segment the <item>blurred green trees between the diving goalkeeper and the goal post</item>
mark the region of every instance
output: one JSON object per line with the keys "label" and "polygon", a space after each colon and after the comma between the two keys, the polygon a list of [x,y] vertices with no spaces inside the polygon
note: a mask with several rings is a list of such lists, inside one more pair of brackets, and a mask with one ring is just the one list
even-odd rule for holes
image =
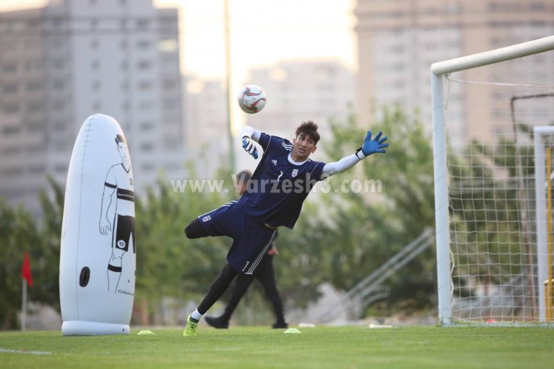
{"label": "blurred green trees between the diving goalkeeper and the goal post", "polygon": [[[388,134],[387,154],[375,154],[331,177],[332,194],[321,196],[319,213],[323,216],[313,222],[317,231],[312,234],[319,233],[312,240],[318,242],[314,247],[319,248],[315,255],[319,255],[320,270],[339,289],[350,289],[425,228],[434,226],[433,155],[422,123],[393,107],[384,108],[382,119],[371,128],[374,134],[379,130]],[[366,131],[353,116],[346,123],[334,124],[331,140],[323,143],[330,160],[351,154]],[[368,179],[380,181],[382,193],[341,190],[344,183]],[[339,193],[334,194],[335,189]],[[434,250],[427,249],[388,285],[393,291],[391,303],[410,299],[418,308],[434,305]]]}

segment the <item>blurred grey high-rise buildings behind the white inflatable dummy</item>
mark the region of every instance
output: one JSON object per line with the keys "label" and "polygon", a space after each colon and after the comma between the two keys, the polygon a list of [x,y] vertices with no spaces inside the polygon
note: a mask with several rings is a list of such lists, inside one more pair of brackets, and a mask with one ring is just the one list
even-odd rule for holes
{"label": "blurred grey high-rise buildings behind the white inflatable dummy", "polygon": [[[4,13],[5,15],[6,13]],[[114,117],[133,152],[137,192],[186,160],[177,11],[150,0],[51,1],[0,17],[0,195],[38,213],[46,174],[64,183],[92,114]]]}

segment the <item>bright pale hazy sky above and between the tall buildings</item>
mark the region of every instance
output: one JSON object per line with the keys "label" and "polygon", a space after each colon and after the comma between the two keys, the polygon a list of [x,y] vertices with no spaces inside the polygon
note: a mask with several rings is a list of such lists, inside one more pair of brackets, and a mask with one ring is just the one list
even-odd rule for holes
{"label": "bright pale hazy sky above and between the tall buildings", "polygon": [[[87,1],[87,0],[82,0]],[[48,0],[0,0],[1,10],[44,6]],[[229,0],[233,84],[251,66],[280,60],[336,58],[355,70],[354,0]],[[223,0],[155,0],[181,12],[183,70],[224,76]],[[248,81],[247,81],[248,82]]]}

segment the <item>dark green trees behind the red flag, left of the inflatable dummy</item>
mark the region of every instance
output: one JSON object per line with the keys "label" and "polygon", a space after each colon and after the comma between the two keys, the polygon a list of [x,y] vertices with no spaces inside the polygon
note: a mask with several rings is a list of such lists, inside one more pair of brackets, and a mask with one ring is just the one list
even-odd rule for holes
{"label": "dark green trees behind the red flag, left of the inflatable dummy", "polygon": [[28,299],[60,308],[60,234],[64,192],[48,177],[52,196],[39,192],[42,222],[22,206],[12,208],[0,198],[0,321],[2,329],[19,327],[21,311],[21,265],[28,251],[33,271],[33,287]]}

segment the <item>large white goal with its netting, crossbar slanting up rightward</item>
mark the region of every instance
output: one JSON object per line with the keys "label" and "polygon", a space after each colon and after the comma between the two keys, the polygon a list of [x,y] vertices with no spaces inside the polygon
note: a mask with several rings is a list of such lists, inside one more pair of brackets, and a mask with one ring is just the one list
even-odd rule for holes
{"label": "large white goal with its netting, crossbar slanting up rightward", "polygon": [[435,63],[431,89],[440,323],[549,321],[550,151],[534,129],[554,125],[554,36]]}

